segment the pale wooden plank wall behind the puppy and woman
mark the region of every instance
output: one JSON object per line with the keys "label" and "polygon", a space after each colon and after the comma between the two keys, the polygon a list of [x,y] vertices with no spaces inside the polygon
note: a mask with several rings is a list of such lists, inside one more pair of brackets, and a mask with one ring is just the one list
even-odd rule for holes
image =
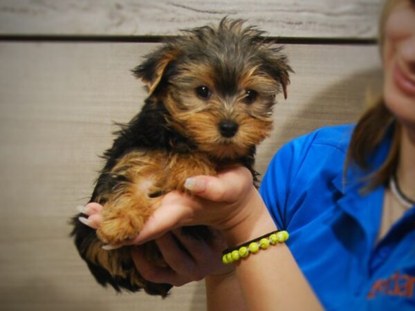
{"label": "pale wooden plank wall behind the puppy and woman", "polygon": [[295,70],[257,169],[291,138],[353,122],[381,85],[382,0],[0,0],[0,310],[205,310],[203,282],[165,299],[100,288],[68,233],[113,122],[145,98],[129,70],[163,36],[225,15],[281,37]]}

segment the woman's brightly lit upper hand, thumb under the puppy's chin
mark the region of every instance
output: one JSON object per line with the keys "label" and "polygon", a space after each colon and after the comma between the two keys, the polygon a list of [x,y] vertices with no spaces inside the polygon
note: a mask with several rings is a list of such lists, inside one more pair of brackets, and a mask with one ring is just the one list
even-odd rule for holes
{"label": "woman's brightly lit upper hand, thumb under the puppy's chin", "polygon": [[188,178],[185,187],[195,196],[178,191],[167,194],[131,243],[145,243],[171,229],[188,225],[208,225],[224,233],[238,232],[237,227],[252,218],[258,207],[264,209],[252,175],[245,167],[228,169],[218,176]]}

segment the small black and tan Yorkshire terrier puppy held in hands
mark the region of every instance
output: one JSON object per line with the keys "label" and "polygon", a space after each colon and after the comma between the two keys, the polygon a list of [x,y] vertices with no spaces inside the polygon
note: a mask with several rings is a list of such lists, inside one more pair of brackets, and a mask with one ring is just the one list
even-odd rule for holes
{"label": "small black and tan Yorkshire terrier puppy held in hands", "polygon": [[[118,131],[90,202],[103,205],[98,230],[72,220],[75,245],[101,285],[166,296],[172,285],[140,276],[131,247],[105,250],[138,235],[164,194],[186,191],[185,180],[235,165],[250,169],[255,147],[271,131],[275,95],[286,97],[291,68],[264,32],[223,19],[219,26],[184,30],[147,55],[133,74],[147,85],[138,115]],[[187,227],[209,238],[207,227]],[[154,242],[151,261],[163,263]]]}

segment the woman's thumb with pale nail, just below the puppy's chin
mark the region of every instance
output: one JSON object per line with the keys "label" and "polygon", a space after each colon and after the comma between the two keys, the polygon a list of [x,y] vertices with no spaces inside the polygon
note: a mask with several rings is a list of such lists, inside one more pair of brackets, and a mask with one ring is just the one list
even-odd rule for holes
{"label": "woman's thumb with pale nail, just below the puppy's chin", "polygon": [[218,176],[187,178],[185,187],[201,198],[232,203],[252,187],[252,174],[245,167],[236,167]]}

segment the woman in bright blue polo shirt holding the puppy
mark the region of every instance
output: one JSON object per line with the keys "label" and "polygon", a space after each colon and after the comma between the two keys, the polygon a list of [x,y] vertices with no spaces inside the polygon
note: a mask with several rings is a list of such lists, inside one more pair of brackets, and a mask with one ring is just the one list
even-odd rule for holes
{"label": "woman in bright blue polo shirt holding the puppy", "polygon": [[[382,98],[356,126],[286,144],[261,195],[239,167],[187,180],[194,199],[165,196],[134,241],[155,238],[169,264],[154,267],[136,247],[146,279],[182,285],[205,277],[209,310],[415,308],[415,1],[387,1],[380,38]],[[92,227],[100,208],[85,207]],[[177,230],[199,224],[220,238],[194,241]],[[290,233],[285,244],[221,263],[225,245],[276,229]]]}

